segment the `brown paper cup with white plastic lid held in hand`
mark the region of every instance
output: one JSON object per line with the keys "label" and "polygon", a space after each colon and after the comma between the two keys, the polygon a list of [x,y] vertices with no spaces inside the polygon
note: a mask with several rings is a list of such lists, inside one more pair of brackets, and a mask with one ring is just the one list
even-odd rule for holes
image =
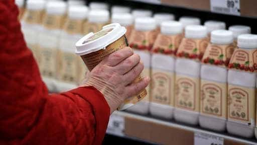
{"label": "brown paper cup with white plastic lid held in hand", "polygon": [[[76,43],[76,54],[80,55],[89,71],[100,63],[109,54],[128,46],[125,37],[126,29],[118,23],[109,24],[102,27],[96,33],[89,33]],[[141,80],[138,76],[133,83]],[[146,89],[136,96],[126,99],[118,110],[124,110],[135,105],[147,95]]]}

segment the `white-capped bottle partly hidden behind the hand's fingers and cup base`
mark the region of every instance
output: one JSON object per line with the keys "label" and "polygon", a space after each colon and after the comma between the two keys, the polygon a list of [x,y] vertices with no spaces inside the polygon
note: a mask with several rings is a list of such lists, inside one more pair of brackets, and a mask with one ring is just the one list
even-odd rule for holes
{"label": "white-capped bottle partly hidden behind the hand's fingers and cup base", "polygon": [[[145,68],[143,70],[144,77],[151,76],[150,62],[151,62],[151,53],[150,50],[153,47],[154,41],[157,37],[156,33],[156,22],[153,18],[143,17],[137,18],[135,20],[135,29],[132,31],[130,36],[130,46],[134,48],[134,53],[137,53],[141,57]],[[128,111],[148,114],[149,112],[149,101],[150,101],[150,86],[148,85],[147,96],[134,105],[133,107],[128,108]]]}

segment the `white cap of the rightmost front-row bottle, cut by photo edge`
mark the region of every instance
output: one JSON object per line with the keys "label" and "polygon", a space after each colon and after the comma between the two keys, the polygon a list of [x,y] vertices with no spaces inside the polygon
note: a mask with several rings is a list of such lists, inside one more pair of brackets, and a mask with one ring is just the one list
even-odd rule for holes
{"label": "white cap of the rightmost front-row bottle, cut by photo edge", "polygon": [[237,46],[239,48],[253,49],[257,48],[257,35],[242,34],[237,37]]}

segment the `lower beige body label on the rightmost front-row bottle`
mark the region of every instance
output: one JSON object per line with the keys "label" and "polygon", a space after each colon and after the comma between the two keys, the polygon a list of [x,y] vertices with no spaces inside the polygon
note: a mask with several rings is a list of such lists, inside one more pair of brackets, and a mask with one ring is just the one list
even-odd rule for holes
{"label": "lower beige body label on the rightmost front-row bottle", "polygon": [[254,125],[255,88],[228,85],[228,120]]}

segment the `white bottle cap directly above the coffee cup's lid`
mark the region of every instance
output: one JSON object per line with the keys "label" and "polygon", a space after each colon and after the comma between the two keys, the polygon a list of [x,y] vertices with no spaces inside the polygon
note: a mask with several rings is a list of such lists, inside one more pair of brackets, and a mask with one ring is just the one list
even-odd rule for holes
{"label": "white bottle cap directly above the coffee cup's lid", "polygon": [[105,23],[109,21],[109,11],[91,10],[88,14],[88,22]]}

